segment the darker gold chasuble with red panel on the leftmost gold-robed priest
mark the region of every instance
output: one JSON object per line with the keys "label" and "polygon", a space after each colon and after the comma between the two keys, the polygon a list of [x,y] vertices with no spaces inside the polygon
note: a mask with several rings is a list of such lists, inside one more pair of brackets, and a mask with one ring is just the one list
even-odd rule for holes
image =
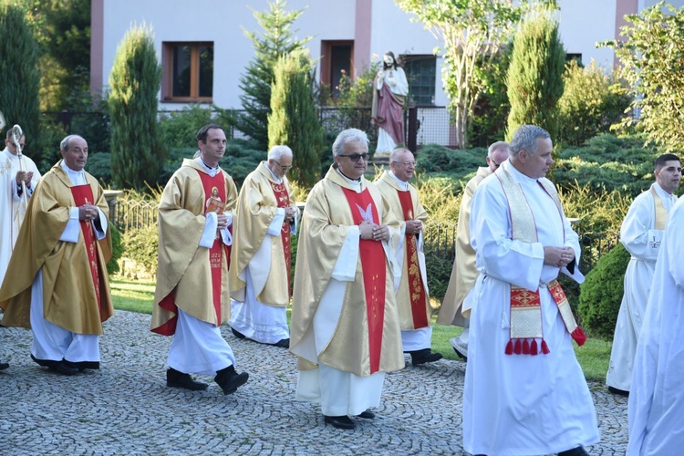
{"label": "darker gold chasuble with red panel on the leftmost gold-robed priest", "polygon": [[92,223],[80,222],[77,243],[59,241],[71,207],[86,202],[109,213],[104,191],[86,172],[85,185],[73,185],[58,161],[36,187],[7,268],[0,307],[2,324],[31,327],[31,286],[43,272],[43,309],[47,321],[77,334],[101,335],[102,322],[114,314],[106,264],[111,235],[97,240]]}

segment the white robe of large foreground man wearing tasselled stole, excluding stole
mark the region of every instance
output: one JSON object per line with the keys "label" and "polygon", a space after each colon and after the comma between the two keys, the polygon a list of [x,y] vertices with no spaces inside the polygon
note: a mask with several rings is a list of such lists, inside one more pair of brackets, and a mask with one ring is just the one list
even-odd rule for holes
{"label": "white robe of large foreground man wearing tasselled stole, excluding stole", "polygon": [[[463,391],[463,447],[472,454],[555,453],[599,440],[594,402],[570,334],[545,286],[561,270],[544,264],[544,246],[570,246],[577,235],[542,186],[516,171],[534,214],[538,242],[513,240],[510,210],[495,175],[472,199],[470,231],[480,271],[475,293]],[[564,241],[565,238],[565,241]],[[570,275],[563,268],[562,272]],[[575,279],[583,276],[575,267]],[[510,339],[510,284],[539,288],[547,355],[505,355]]]}

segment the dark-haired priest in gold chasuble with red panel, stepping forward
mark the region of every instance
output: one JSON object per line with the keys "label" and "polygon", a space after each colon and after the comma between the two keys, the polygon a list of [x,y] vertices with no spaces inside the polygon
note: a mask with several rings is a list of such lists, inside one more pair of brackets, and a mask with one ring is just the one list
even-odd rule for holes
{"label": "dark-haired priest in gold chasuble with red panel, stepping forward", "polygon": [[206,389],[190,374],[214,375],[232,394],[248,374],[235,371],[233,349],[220,326],[230,317],[230,232],[237,189],[219,167],[225,133],[214,124],[197,133],[200,156],[183,160],[161,195],[159,266],[151,330],[173,336],[166,384]]}

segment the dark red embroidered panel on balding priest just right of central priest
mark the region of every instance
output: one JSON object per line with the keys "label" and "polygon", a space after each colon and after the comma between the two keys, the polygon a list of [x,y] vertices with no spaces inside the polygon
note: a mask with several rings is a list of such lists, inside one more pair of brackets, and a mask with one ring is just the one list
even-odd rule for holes
{"label": "dark red embroidered panel on balding priest just right of central priest", "polygon": [[[413,220],[413,201],[411,192],[397,191],[401,210],[404,212],[404,220]],[[406,265],[409,278],[409,299],[411,305],[411,315],[413,316],[413,327],[420,329],[428,326],[428,315],[425,310],[425,287],[420,275],[420,264],[418,263],[418,243],[415,234],[406,234]]]}

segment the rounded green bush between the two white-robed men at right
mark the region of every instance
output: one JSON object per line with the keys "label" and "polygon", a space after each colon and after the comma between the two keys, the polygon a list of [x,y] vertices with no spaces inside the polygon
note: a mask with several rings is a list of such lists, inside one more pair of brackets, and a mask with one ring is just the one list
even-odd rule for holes
{"label": "rounded green bush between the two white-robed men at right", "polygon": [[613,338],[624,294],[624,277],[630,255],[622,244],[605,254],[581,285],[577,312],[592,337]]}

